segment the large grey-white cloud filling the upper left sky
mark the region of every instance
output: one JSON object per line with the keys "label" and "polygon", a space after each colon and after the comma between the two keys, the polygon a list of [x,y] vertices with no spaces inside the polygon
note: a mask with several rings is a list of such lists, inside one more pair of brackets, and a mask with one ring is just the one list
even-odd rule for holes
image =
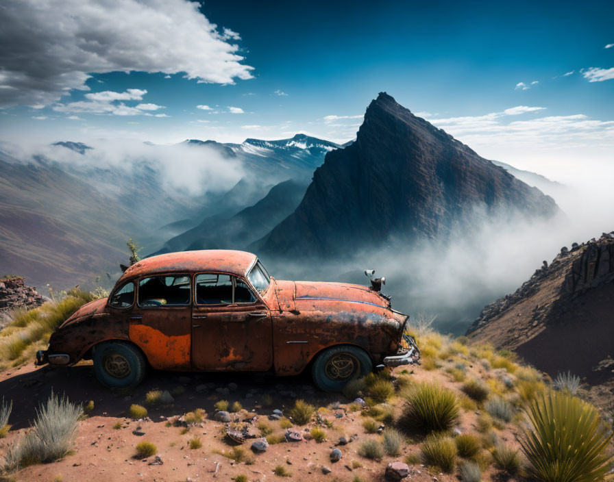
{"label": "large grey-white cloud filling the upper left sky", "polygon": [[[185,73],[234,84],[250,79],[240,36],[188,0],[5,0],[0,30],[0,105],[49,105],[90,73]],[[27,62],[25,61],[27,60]]]}

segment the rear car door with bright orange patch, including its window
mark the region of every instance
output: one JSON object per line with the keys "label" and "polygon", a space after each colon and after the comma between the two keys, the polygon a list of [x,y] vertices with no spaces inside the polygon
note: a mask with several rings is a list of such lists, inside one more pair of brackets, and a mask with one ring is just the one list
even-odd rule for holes
{"label": "rear car door with bright orange patch, including its window", "polygon": [[187,274],[144,277],[137,283],[129,337],[153,368],[191,368],[191,278]]}

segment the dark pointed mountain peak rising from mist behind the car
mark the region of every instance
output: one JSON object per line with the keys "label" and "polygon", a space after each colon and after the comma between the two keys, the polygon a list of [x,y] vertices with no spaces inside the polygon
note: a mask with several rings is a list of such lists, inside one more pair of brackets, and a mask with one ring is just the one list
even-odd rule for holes
{"label": "dark pointed mountain peak rising from mist behind the car", "polygon": [[391,236],[445,239],[455,223],[476,212],[549,217],[558,207],[380,93],[356,142],[326,155],[302,203],[271,231],[263,249],[339,255]]}

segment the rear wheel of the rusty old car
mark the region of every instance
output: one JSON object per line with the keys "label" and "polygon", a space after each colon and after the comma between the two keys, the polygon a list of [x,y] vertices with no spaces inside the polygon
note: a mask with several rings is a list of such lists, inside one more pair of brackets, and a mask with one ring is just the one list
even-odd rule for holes
{"label": "rear wheel of the rusty old car", "polygon": [[104,342],[94,347],[94,373],[108,388],[136,387],[145,377],[145,357],[135,346]]}

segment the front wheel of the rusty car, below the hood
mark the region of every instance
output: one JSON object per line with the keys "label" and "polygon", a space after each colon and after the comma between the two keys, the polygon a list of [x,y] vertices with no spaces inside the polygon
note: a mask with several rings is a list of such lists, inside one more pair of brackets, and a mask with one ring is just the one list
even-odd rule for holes
{"label": "front wheel of the rusty car, below the hood", "polygon": [[373,371],[369,354],[358,346],[332,346],[320,353],[311,368],[313,381],[325,392],[341,392],[347,382]]}

